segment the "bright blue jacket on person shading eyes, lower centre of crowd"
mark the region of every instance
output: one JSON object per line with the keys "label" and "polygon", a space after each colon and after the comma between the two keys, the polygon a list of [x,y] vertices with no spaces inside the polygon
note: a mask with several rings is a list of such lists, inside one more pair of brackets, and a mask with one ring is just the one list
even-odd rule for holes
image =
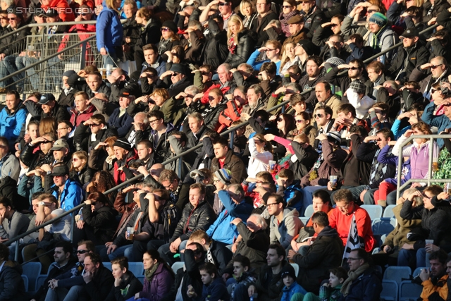
{"label": "bright blue jacket on person shading eyes, lower centre of crowd", "polygon": [[218,192],[218,197],[225,208],[219,214],[218,219],[210,226],[209,230],[206,231],[206,234],[213,240],[230,245],[239,234],[237,227],[230,222],[237,217],[242,219],[242,221],[247,221],[254,207],[245,201],[236,204],[226,190]]}

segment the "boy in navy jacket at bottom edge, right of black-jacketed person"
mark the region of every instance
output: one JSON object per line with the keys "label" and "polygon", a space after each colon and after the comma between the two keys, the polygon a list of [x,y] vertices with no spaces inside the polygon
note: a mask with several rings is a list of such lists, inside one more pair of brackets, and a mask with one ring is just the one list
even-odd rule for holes
{"label": "boy in navy jacket at bottom edge, right of black-jacketed person", "polygon": [[[202,301],[229,301],[230,296],[228,295],[226,285],[223,279],[219,277],[218,270],[214,264],[210,262],[202,264],[199,266],[200,276],[202,278],[202,283],[204,283],[204,288],[202,288],[202,297],[199,300]],[[194,292],[192,285],[188,285],[187,291],[188,297],[197,297]]]}

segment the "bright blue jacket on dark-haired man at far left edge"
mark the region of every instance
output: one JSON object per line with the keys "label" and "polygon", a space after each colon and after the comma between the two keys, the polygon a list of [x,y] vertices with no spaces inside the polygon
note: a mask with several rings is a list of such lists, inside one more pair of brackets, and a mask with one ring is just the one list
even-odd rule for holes
{"label": "bright blue jacket on dark-haired man at far left edge", "polygon": [[26,118],[27,110],[23,107],[19,107],[14,113],[11,113],[5,106],[0,111],[0,136],[8,139],[10,145],[14,143],[17,137],[19,137],[20,130],[22,130],[22,125],[25,123]]}

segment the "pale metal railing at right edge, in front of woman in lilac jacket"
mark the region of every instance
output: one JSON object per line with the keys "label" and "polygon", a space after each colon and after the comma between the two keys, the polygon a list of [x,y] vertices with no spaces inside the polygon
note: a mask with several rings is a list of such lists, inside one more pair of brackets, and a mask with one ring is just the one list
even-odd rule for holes
{"label": "pale metal railing at right edge, in front of woman in lilac jacket", "polygon": [[[429,159],[428,159],[428,178],[423,179],[409,179],[404,184],[401,185],[402,181],[402,149],[404,146],[406,146],[409,142],[412,142],[414,139],[426,139],[429,140]],[[428,183],[428,185],[431,185],[431,182],[435,183],[450,183],[451,179],[434,179],[432,178],[433,173],[433,159],[438,159],[440,156],[440,152],[436,154],[434,157],[433,154],[433,143],[436,139],[451,139],[451,135],[411,135],[407,138],[402,144],[400,145],[400,154],[398,154],[397,157],[397,189],[396,189],[396,199],[400,198],[400,192],[407,187],[407,185],[410,185],[411,183]]]}

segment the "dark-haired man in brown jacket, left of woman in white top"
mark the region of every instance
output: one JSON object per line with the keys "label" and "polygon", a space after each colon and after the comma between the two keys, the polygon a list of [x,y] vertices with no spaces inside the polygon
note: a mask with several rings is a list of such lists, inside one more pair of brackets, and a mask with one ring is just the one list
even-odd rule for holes
{"label": "dark-haired man in brown jacket, left of woman in white top", "polygon": [[230,183],[242,183],[246,175],[245,164],[233,154],[232,149],[229,149],[227,139],[219,137],[212,143],[215,158],[211,160],[211,172],[215,173],[221,168],[226,168],[232,175]]}

